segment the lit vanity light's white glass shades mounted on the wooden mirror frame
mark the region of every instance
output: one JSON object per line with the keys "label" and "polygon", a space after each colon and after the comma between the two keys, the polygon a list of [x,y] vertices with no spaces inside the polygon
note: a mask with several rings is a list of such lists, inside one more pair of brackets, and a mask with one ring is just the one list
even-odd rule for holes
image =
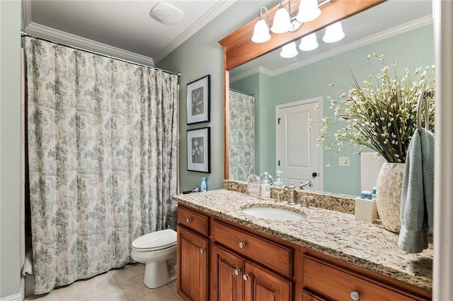
{"label": "lit vanity light's white glass shades mounted on the wooden mirror frame", "polygon": [[[301,28],[304,22],[312,21],[321,16],[320,7],[330,2],[331,0],[324,0],[320,3],[318,3],[318,0],[301,0],[299,11],[291,13],[291,0],[288,0],[289,10],[283,5],[283,0],[280,0],[280,5],[275,11],[272,28],[269,28],[269,11],[263,6],[260,8],[260,16],[253,28],[252,41],[256,43],[268,42],[270,40],[269,31],[273,33],[292,33]],[[263,18],[264,11],[266,20]]]}

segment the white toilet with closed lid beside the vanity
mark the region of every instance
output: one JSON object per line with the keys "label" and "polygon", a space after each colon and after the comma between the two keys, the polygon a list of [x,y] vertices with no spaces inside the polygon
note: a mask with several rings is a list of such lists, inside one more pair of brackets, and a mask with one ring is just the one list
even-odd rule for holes
{"label": "white toilet with closed lid beside the vanity", "polygon": [[143,283],[148,288],[159,288],[176,279],[176,236],[176,231],[166,229],[132,242],[132,259],[146,264]]}

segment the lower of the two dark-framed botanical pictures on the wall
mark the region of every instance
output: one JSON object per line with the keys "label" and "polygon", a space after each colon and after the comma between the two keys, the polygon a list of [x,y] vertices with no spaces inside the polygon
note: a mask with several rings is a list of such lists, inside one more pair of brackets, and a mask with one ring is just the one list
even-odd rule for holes
{"label": "lower of the two dark-framed botanical pictures on the wall", "polygon": [[187,170],[211,172],[210,127],[188,129]]}

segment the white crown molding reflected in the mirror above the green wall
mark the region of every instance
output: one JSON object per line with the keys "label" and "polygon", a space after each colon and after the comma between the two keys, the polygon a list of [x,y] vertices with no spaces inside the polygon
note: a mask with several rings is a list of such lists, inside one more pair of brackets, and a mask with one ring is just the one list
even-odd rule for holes
{"label": "white crown molding reflected in the mirror above the green wall", "polygon": [[[423,27],[425,25],[429,25],[429,24],[432,23],[432,21],[433,21],[432,20],[432,15],[424,16],[422,18],[418,18],[418,19],[412,20],[412,21],[410,21],[408,23],[404,23],[404,24],[395,26],[394,28],[390,28],[388,30],[384,30],[381,33],[377,33],[375,35],[370,35],[369,37],[365,37],[365,38],[357,40],[355,42],[350,42],[349,44],[337,47],[336,49],[331,49],[331,50],[328,50],[328,51],[323,52],[321,54],[316,54],[313,57],[309,57],[307,59],[303,59],[301,61],[297,61],[294,64],[290,64],[290,65],[284,66],[282,68],[274,69],[274,70],[266,69],[268,71],[268,73],[266,75],[268,75],[268,76],[277,76],[277,75],[285,73],[287,71],[292,71],[292,70],[300,68],[302,66],[313,64],[316,61],[321,61],[323,59],[327,59],[329,57],[333,57],[333,56],[336,56],[338,54],[342,54],[344,52],[348,52],[348,51],[350,51],[352,49],[356,49],[358,47],[369,45],[371,43],[378,42],[380,40],[384,40],[384,39],[389,38],[389,37],[394,37],[395,35],[399,35],[401,33],[406,33],[408,31]],[[243,73],[239,73],[238,75],[234,76],[235,81],[237,81],[237,80],[239,80],[241,78],[244,78],[246,76],[250,76],[251,74],[253,74],[252,70],[253,70],[254,73],[256,73],[256,72],[258,72],[257,70],[260,70],[260,69],[253,68],[253,69],[250,69],[248,71],[244,71]],[[243,76],[243,74],[246,74],[246,75]]]}

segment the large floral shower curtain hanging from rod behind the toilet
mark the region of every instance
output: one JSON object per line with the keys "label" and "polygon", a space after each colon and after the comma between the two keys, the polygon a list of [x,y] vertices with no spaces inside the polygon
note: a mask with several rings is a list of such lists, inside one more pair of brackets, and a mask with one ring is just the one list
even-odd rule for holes
{"label": "large floral shower curtain hanging from rod behind the toilet", "polygon": [[178,78],[25,40],[34,290],[132,261],[175,225]]}

